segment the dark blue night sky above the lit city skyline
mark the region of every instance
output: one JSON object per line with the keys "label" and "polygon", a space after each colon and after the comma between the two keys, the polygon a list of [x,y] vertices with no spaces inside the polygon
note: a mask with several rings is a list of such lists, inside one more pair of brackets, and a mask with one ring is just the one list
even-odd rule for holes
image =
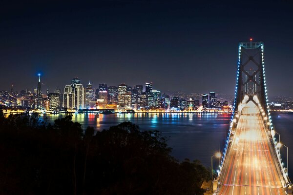
{"label": "dark blue night sky above the lit city skyline", "polygon": [[293,1],[0,3],[0,90],[153,82],[233,94],[238,42],[264,41],[268,93],[293,96]]}

